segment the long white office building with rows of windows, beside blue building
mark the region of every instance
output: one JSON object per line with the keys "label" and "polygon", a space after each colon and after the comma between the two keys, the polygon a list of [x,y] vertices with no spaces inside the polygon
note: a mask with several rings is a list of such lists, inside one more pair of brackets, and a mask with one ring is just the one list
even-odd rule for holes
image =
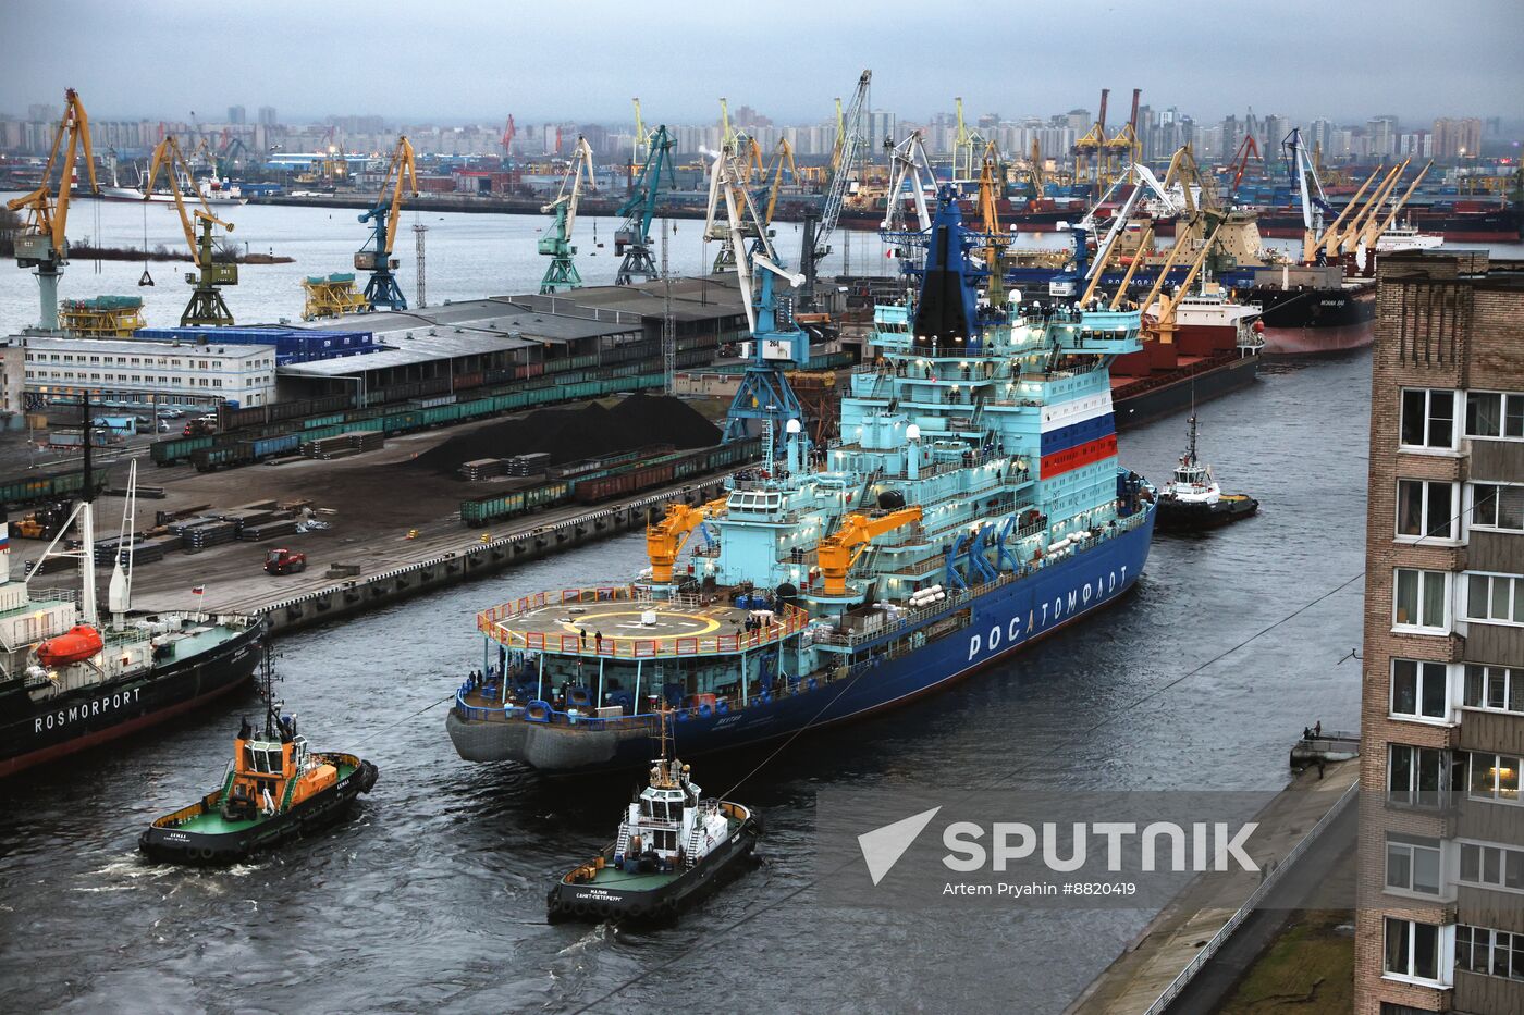
{"label": "long white office building with rows of windows, beside blue building", "polygon": [[102,404],[267,405],[274,401],[274,346],[110,338],[20,338],[26,393],[78,395]]}

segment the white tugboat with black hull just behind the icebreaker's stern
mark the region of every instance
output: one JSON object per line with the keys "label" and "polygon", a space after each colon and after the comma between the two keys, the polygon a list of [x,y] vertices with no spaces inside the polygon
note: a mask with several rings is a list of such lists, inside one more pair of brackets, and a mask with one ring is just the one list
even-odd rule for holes
{"label": "white tugboat with black hull just behind the icebreaker's stern", "polygon": [[552,924],[671,922],[753,855],[760,818],[741,803],[706,800],[689,767],[666,754],[663,715],[651,785],[629,803],[617,838],[550,889],[546,916]]}

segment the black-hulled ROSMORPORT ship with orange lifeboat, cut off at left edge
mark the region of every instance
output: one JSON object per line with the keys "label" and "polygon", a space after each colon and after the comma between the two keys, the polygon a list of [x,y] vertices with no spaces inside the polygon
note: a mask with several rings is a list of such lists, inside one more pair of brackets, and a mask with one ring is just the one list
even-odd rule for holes
{"label": "black-hulled ROSMORPORT ship with orange lifeboat, cut off at left edge", "polygon": [[[88,453],[84,471],[91,472]],[[136,463],[133,471],[136,477]],[[93,485],[87,480],[84,489],[43,553],[44,564],[55,556],[78,556],[79,588],[34,591],[37,572],[12,582],[6,526],[0,521],[0,777],[181,715],[247,684],[259,663],[259,617],[133,616],[130,550],[116,558],[108,614],[101,616]],[[131,527],[134,504],[130,494],[123,532]],[[55,553],[75,523],[81,549]]]}

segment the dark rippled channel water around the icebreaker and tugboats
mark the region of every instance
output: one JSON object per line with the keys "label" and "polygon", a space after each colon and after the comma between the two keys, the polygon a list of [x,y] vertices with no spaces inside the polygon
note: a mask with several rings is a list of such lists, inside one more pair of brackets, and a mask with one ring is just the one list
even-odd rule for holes
{"label": "dark rippled channel water around the icebreaker and tugboats", "polygon": [[[297,242],[293,227],[274,245]],[[465,282],[442,268],[439,294],[523,287],[524,268],[480,261]],[[0,273],[11,319],[18,274]],[[139,831],[216,785],[239,718],[259,713],[251,690],[0,785],[5,1007],[1058,1012],[1151,911],[826,907],[817,792],[1285,785],[1303,727],[1358,721],[1344,657],[1361,639],[1369,392],[1364,351],[1266,364],[1199,413],[1202,457],[1262,501],[1257,518],[1158,536],[1134,594],[943,693],[776,754],[698,760],[707,792],[764,814],[765,860],[677,928],[544,921],[550,879],[611,837],[634,777],[472,765],[443,730],[482,664],[475,610],[632,575],[639,535],[283,639],[277,693],[315,748],[379,765],[375,792],[332,834],[256,863],[143,863]],[[1163,482],[1184,440],[1184,418],[1141,427],[1122,460]]]}

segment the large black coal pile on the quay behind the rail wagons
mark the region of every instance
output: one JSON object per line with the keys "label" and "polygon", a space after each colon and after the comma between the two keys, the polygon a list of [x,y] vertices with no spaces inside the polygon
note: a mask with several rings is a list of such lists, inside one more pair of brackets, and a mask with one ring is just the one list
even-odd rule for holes
{"label": "large black coal pile on the quay behind the rail wagons", "polygon": [[457,434],[410,462],[440,475],[480,459],[546,454],[547,465],[596,459],[652,443],[704,448],[719,443],[719,428],[687,402],[657,395],[631,395],[613,408],[593,402],[578,408],[541,408],[523,419]]}

